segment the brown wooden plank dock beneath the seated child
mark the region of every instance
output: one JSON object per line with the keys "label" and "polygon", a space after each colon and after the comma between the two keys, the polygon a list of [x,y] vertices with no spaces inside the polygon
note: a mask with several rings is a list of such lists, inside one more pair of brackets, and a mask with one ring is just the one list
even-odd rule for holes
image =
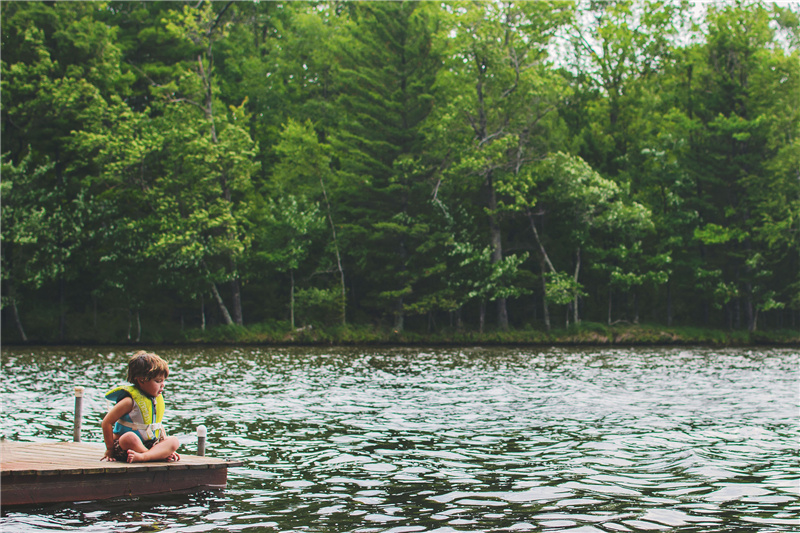
{"label": "brown wooden plank dock beneath the seated child", "polygon": [[102,500],[224,488],[241,461],[181,454],[177,462],[101,461],[105,447],[85,442],[0,441],[0,505]]}

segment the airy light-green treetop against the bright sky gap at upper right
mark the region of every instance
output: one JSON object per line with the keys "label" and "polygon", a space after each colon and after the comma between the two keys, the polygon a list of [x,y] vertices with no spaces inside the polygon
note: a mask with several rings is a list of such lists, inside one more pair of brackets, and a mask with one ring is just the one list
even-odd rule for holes
{"label": "airy light-green treetop against the bright sky gap at upper right", "polygon": [[[578,5],[569,32],[575,92],[583,95],[577,148],[598,172],[632,182],[644,178],[634,166],[654,132],[660,87],[654,81],[673,61],[685,30],[684,2],[589,0]],[[645,144],[646,146],[646,144]]]}

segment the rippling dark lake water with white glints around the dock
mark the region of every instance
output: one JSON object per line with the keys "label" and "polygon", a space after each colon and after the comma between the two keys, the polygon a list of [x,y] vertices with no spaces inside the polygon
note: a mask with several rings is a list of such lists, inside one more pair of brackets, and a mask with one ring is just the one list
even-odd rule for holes
{"label": "rippling dark lake water with white glints around the dock", "polygon": [[[226,490],[3,509],[0,530],[800,531],[792,349],[168,348],[165,422]],[[4,348],[2,436],[102,442],[120,348]]]}

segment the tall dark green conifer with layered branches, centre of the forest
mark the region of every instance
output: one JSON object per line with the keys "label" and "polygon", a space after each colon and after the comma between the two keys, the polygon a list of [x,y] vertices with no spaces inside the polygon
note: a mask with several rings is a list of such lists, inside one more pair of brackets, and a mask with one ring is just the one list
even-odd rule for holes
{"label": "tall dark green conifer with layered branches, centre of the forest", "polygon": [[349,16],[337,50],[339,121],[330,136],[340,208],[348,214],[343,238],[365,307],[379,314],[390,309],[400,331],[409,306],[429,308],[415,305],[424,298],[415,285],[425,272],[413,257],[431,228],[420,127],[441,66],[432,49],[438,6],[365,2],[354,4]]}

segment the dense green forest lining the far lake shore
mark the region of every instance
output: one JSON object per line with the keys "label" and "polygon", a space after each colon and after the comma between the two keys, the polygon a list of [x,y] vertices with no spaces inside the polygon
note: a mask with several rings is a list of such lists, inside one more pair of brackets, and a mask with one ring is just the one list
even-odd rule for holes
{"label": "dense green forest lining the far lake shore", "polygon": [[4,342],[800,327],[797,4],[0,9]]}

